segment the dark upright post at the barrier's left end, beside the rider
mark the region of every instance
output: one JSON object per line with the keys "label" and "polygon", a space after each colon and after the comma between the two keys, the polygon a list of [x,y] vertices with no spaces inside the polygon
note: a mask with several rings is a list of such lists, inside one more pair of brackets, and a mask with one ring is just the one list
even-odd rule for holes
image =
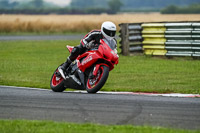
{"label": "dark upright post at the barrier's left end, beside the rider", "polygon": [[129,30],[128,24],[120,24],[121,27],[121,48],[122,48],[122,55],[129,55]]}

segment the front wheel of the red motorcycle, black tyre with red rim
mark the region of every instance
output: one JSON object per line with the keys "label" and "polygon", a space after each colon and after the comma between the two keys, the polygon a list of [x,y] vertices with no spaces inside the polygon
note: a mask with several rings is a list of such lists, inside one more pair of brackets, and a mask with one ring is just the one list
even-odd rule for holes
{"label": "front wheel of the red motorcycle, black tyre with red rim", "polygon": [[[93,70],[90,71],[92,75]],[[88,93],[96,93],[99,91],[103,85],[106,83],[106,80],[109,75],[109,67],[100,66],[96,76],[89,76],[86,83],[86,90]]]}

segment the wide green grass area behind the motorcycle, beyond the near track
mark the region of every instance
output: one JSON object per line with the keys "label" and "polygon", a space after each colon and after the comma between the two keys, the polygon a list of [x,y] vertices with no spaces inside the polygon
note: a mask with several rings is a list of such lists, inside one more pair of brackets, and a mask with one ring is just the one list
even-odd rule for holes
{"label": "wide green grass area behind the motorcycle, beyond the near track", "polygon": [[[50,78],[79,41],[1,41],[0,84],[50,88]],[[122,56],[104,91],[200,93],[200,61]]]}

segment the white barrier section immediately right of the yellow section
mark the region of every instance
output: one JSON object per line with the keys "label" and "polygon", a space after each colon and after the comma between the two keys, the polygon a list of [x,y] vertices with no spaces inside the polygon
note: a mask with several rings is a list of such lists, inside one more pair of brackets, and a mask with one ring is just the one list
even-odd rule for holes
{"label": "white barrier section immediately right of the yellow section", "polygon": [[192,23],[166,23],[166,56],[192,56]]}

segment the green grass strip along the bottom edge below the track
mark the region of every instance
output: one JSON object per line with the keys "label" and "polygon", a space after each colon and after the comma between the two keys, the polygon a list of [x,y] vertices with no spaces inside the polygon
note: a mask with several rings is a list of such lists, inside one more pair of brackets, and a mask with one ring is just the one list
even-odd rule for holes
{"label": "green grass strip along the bottom edge below the track", "polygon": [[200,130],[132,125],[73,124],[53,121],[0,120],[1,133],[199,133]]}

